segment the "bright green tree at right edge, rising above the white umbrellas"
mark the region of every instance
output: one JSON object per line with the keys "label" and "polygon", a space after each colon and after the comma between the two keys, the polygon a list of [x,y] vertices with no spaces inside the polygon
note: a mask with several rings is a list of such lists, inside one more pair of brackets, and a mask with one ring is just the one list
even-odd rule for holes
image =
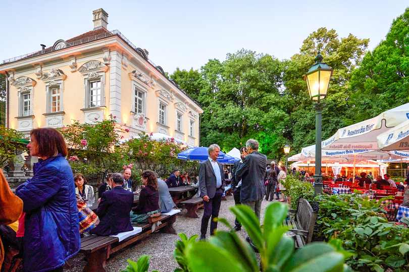
{"label": "bright green tree at right edge, rising above the white umbrellas", "polygon": [[368,52],[349,84],[359,122],[409,102],[409,8],[393,20],[386,39]]}

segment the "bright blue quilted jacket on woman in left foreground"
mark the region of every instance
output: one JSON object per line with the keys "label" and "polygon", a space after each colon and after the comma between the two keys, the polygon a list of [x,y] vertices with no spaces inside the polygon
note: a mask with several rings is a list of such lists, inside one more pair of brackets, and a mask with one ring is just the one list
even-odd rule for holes
{"label": "bright blue quilted jacket on woman in left foreground", "polygon": [[64,265],[81,246],[75,185],[68,161],[58,154],[34,164],[34,176],[16,189],[26,213],[25,271]]}

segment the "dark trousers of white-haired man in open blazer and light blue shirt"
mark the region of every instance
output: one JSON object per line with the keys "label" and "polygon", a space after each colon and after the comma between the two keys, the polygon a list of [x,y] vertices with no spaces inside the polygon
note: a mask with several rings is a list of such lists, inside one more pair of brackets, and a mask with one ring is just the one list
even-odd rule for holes
{"label": "dark trousers of white-haired man in open blazer and light blue shirt", "polygon": [[200,234],[201,237],[205,237],[208,232],[209,219],[212,217],[212,222],[210,222],[210,235],[213,235],[215,229],[217,229],[217,222],[213,221],[219,216],[220,204],[222,202],[223,189],[219,188],[216,190],[215,196],[209,198],[209,202],[203,200],[203,217],[201,218]]}

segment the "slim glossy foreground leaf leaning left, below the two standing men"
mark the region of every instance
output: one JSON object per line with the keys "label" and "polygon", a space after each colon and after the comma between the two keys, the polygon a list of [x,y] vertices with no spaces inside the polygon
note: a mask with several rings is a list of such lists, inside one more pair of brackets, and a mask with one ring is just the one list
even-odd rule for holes
{"label": "slim glossy foreground leaf leaning left, below the two standing men", "polygon": [[248,236],[258,248],[264,248],[260,221],[255,216],[254,212],[247,206],[237,205],[229,208],[230,211],[237,217],[237,220],[244,226]]}

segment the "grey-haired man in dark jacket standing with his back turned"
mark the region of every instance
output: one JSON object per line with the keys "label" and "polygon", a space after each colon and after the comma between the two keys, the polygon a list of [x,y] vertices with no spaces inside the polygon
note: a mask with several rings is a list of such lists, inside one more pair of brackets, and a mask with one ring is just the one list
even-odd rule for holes
{"label": "grey-haired man in dark jacket standing with his back turned", "polygon": [[264,196],[264,175],[267,156],[259,151],[259,142],[249,139],[246,142],[248,155],[236,169],[236,180],[241,180],[240,202],[249,206],[260,220],[261,203]]}

